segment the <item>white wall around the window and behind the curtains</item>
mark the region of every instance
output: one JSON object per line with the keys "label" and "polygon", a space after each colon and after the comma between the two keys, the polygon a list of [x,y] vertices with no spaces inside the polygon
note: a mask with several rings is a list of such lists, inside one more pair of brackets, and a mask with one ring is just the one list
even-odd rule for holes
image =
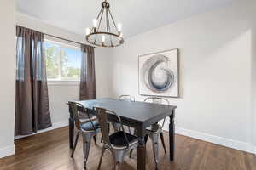
{"label": "white wall around the window and behind the curtains", "polygon": [[[56,37],[66,38],[75,42],[85,42],[85,38],[70,31],[66,31],[46,22],[35,19],[26,14],[17,13],[16,24],[37,31],[41,31]],[[107,80],[105,71],[108,68],[108,58],[105,57],[106,51],[95,48],[96,53],[96,97],[107,97],[109,88],[102,84]],[[79,82],[49,82],[49,107],[53,127],[62,127],[68,122],[68,100],[79,99]]]}

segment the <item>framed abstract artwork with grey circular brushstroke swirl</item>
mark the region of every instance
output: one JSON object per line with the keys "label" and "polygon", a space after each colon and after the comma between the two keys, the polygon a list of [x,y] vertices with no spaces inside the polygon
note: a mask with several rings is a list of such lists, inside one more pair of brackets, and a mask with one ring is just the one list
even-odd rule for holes
{"label": "framed abstract artwork with grey circular brushstroke swirl", "polygon": [[178,49],[138,57],[139,94],[179,97]]}

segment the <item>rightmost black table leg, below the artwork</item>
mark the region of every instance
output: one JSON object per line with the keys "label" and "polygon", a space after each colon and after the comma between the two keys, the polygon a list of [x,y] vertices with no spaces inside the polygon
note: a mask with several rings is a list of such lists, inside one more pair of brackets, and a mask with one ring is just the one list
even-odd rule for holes
{"label": "rightmost black table leg, below the artwork", "polygon": [[172,111],[170,116],[169,124],[169,144],[170,144],[170,161],[174,161],[174,150],[175,150],[175,125],[174,125],[175,112]]}

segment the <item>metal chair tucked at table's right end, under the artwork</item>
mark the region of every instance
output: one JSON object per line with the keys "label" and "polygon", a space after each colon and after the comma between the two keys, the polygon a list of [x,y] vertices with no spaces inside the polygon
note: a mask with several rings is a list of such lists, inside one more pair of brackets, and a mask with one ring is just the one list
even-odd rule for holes
{"label": "metal chair tucked at table's right end, under the artwork", "polygon": [[[165,98],[160,97],[148,97],[144,99],[144,102],[148,103],[155,103],[155,104],[162,104],[162,105],[170,105],[170,102]],[[166,144],[164,140],[164,133],[163,133],[163,127],[166,122],[166,117],[163,119],[163,122],[161,125],[157,122],[152,124],[150,127],[146,128],[146,141],[149,137],[152,140],[153,145],[153,152],[154,152],[154,162],[155,162],[155,169],[159,169],[158,163],[159,163],[159,138],[161,139],[161,143],[163,145],[163,148],[165,150],[166,154]],[[135,132],[136,133],[136,132]],[[130,157],[132,154],[132,150],[130,152]]]}

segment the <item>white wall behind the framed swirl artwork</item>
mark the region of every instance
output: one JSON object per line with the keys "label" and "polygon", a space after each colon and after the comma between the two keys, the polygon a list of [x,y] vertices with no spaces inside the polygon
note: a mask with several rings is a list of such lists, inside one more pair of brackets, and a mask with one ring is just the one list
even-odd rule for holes
{"label": "white wall behind the framed swirl artwork", "polygon": [[170,99],[178,106],[177,133],[253,151],[255,8],[253,0],[236,2],[125,39],[108,57],[112,96],[131,94],[143,100],[138,95],[138,55],[179,48],[181,98]]}

